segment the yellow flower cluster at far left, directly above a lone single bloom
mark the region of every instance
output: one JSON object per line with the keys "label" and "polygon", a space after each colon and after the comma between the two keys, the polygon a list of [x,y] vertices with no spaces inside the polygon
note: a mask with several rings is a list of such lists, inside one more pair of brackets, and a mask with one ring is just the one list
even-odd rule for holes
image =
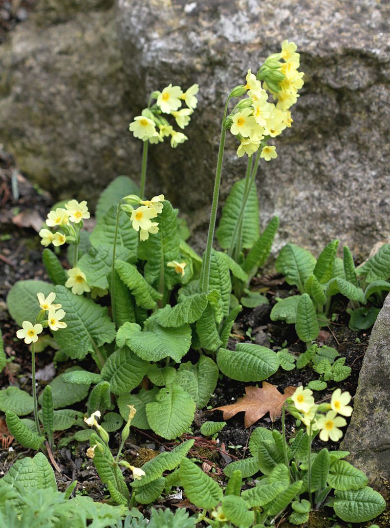
{"label": "yellow flower cluster at far left, directly above a lone single bloom", "polygon": [[42,246],[62,246],[65,242],[74,242],[77,239],[77,231],[82,227],[82,220],[89,218],[87,202],[70,200],[65,203],[65,209],[56,208],[47,215],[46,225],[50,228],[61,228],[60,231],[52,232],[50,229],[41,229]]}

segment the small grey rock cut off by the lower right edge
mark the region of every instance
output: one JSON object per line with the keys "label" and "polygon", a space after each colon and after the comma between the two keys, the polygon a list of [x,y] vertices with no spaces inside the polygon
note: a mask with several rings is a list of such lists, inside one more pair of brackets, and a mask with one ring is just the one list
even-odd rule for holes
{"label": "small grey rock cut off by the lower right edge", "polygon": [[378,315],[359,374],[354,412],[341,449],[366,473],[370,485],[388,494],[390,479],[390,295]]}

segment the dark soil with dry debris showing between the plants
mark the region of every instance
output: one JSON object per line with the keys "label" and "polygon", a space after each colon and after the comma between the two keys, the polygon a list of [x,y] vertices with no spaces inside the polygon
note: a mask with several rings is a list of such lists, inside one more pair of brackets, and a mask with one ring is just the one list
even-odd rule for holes
{"label": "dark soil with dry debris showing between the plants", "polygon": [[[11,384],[31,391],[30,354],[25,345],[21,341],[16,340],[17,326],[6,311],[7,292],[20,279],[47,279],[41,260],[42,246],[37,234],[39,228],[34,230],[31,227],[18,227],[14,223],[15,216],[25,213],[23,222],[25,221],[26,224],[28,223],[29,214],[32,212],[38,213],[44,219],[52,205],[53,199],[51,196],[34,187],[23,176],[18,174],[12,158],[0,150],[0,325],[3,331],[6,354],[12,358],[12,362],[0,374],[0,386],[2,388]],[[64,265],[66,264],[65,260],[63,263]],[[262,344],[275,350],[286,347],[292,353],[299,354],[304,352],[305,346],[298,340],[293,325],[271,322],[269,316],[271,307],[275,303],[275,298],[289,295],[291,287],[285,284],[280,276],[257,277],[254,280],[254,287],[266,290],[270,304],[261,305],[255,309],[244,309],[234,325],[234,336],[230,340],[229,347],[234,350],[236,342],[250,342]],[[354,395],[357,388],[359,370],[368,344],[369,332],[351,332],[348,328],[349,316],[345,312],[345,308],[346,305],[336,299],[332,307],[332,311],[336,314],[335,322],[330,327],[322,329],[318,343],[335,347],[341,356],[346,357],[346,365],[351,367],[352,372],[349,378],[337,383],[337,386],[341,390],[349,391]],[[46,348],[44,353],[37,354],[37,370],[51,365],[54,353],[55,351],[51,348]],[[61,370],[72,364],[72,362],[61,363]],[[82,363],[82,366],[91,370],[91,364],[88,359]],[[56,374],[59,372],[60,370]],[[313,372],[310,367],[302,370],[294,369],[290,372],[284,372],[280,369],[267,381],[277,385],[279,390],[283,392],[283,389],[288,385],[305,385],[311,380],[318,379],[318,377],[318,374]],[[41,380],[37,388],[38,392],[49,381],[50,378],[45,381]],[[240,383],[223,377],[218,383],[208,410],[199,411],[196,415],[192,429],[193,435],[184,435],[183,437],[183,439],[195,438],[195,445],[191,455],[201,460],[203,469],[220,481],[224,480],[222,470],[226,464],[248,456],[248,441],[251,431],[255,427],[275,427],[280,430],[280,420],[272,423],[268,416],[263,417],[254,426],[245,429],[243,426],[243,414],[239,413],[227,422],[227,426],[219,433],[217,441],[201,436],[199,432],[201,423],[206,420],[222,420],[222,412],[211,411],[211,409],[233,403],[237,398],[242,397],[246,385],[250,385],[250,383]],[[336,384],[328,382],[328,388],[325,391],[315,393],[316,400],[329,401],[330,394],[335,386]],[[85,402],[78,404],[78,410],[85,411]],[[288,435],[293,433],[294,427],[295,420],[287,417]],[[63,436],[68,436],[70,432],[61,431],[56,433],[56,444]],[[16,442],[13,443],[12,437],[9,438],[7,436],[4,416],[0,416],[0,438],[3,438],[4,447],[0,451],[1,475],[7,472],[17,458],[34,455],[33,451],[25,450]],[[111,433],[110,438],[110,445],[113,452],[115,452],[119,447],[120,435],[118,432]],[[58,486],[63,491],[72,480],[76,479],[79,483],[79,492],[88,494],[97,501],[104,501],[108,495],[96,474],[92,460],[85,455],[88,447],[87,442],[79,444],[73,442],[68,447],[53,452],[56,464],[61,469],[61,472],[56,472]],[[151,431],[140,431],[133,428],[123,452],[132,464],[141,466],[148,458],[156,456],[158,452],[170,450],[173,447],[175,447],[175,442],[161,439]],[[315,440],[314,448],[317,450],[322,447],[325,447],[325,444]],[[338,449],[339,445],[328,442],[326,447]],[[253,480],[247,479],[247,482],[248,485],[251,485]],[[180,495],[175,495],[175,491],[171,495],[160,498],[158,504],[171,508],[189,506],[186,501],[180,498]],[[336,526],[336,520],[329,518],[331,515],[331,510],[325,513],[324,511],[316,512],[311,516],[307,526],[311,528]],[[282,524],[279,523],[279,525],[288,526],[288,523],[283,522]],[[339,526],[345,525],[339,523]],[[366,524],[362,524],[362,526],[366,526]],[[382,526],[388,525],[382,524]]]}

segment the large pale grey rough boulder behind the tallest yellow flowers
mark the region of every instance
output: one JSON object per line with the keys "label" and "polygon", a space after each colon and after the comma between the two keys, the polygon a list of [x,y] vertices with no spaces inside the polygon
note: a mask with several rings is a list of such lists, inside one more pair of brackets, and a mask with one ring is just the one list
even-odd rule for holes
{"label": "large pale grey rough boulder behind the tallest yellow flowers", "polygon": [[[157,192],[163,182],[175,204],[196,211],[199,229],[209,214],[226,95],[289,39],[298,44],[305,87],[292,128],[275,142],[277,161],[260,167],[263,223],[279,214],[280,243],[320,250],[337,237],[359,256],[389,236],[388,3],[117,0],[116,7],[135,109],[169,82],[199,83],[189,141],[174,152],[168,145],[149,150],[149,184]],[[222,203],[245,172],[235,149],[230,138]]]}

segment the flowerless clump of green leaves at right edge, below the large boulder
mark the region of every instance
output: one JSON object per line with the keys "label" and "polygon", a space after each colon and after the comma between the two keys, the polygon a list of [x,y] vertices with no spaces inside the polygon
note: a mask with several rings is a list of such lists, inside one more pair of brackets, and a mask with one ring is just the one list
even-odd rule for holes
{"label": "flowerless clump of green leaves at right edge, below the large boulder", "polygon": [[332,240],[316,260],[310,251],[288,243],[276,260],[277,270],[298,288],[299,295],[280,299],[271,319],[295,324],[299,338],[309,344],[320,327],[329,324],[333,296],[341,294],[350,301],[349,326],[357,331],[374,324],[383,293],[390,291],[390,244],[358,268],[348,246],[344,246],[343,259],[337,257],[338,244]]}

